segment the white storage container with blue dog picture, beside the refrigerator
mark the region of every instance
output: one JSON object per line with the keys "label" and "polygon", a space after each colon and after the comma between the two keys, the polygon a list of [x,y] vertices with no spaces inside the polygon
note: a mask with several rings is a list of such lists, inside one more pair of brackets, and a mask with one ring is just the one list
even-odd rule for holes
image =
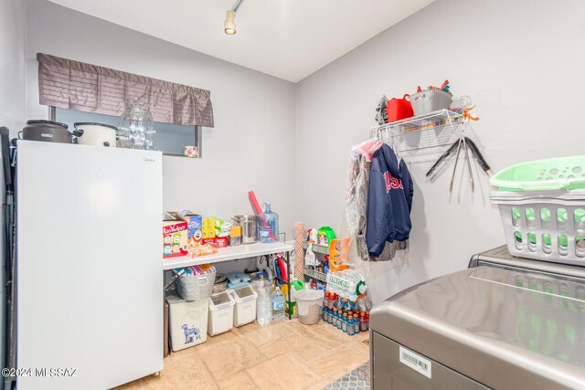
{"label": "white storage container with blue dog picture, beside the refrigerator", "polygon": [[173,351],[180,351],[207,341],[209,300],[187,301],[168,292],[169,331]]}

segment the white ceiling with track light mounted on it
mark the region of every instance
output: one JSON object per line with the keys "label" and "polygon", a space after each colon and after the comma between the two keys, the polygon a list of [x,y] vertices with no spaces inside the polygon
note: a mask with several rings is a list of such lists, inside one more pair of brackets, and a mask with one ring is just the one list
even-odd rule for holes
{"label": "white ceiling with track light mounted on it", "polygon": [[304,79],[434,0],[50,0],[210,56]]}

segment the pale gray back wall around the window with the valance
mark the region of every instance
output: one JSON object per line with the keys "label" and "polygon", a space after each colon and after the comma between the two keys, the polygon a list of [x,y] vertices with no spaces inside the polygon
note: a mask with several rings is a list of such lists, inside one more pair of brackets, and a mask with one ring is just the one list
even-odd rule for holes
{"label": "pale gray back wall around the window with the valance", "polygon": [[[211,90],[215,129],[205,129],[204,158],[165,157],[166,210],[208,216],[250,214],[248,191],[270,201],[293,232],[294,84],[45,0],[28,1],[27,118],[38,104],[37,52]],[[229,38],[229,37],[227,37]]]}

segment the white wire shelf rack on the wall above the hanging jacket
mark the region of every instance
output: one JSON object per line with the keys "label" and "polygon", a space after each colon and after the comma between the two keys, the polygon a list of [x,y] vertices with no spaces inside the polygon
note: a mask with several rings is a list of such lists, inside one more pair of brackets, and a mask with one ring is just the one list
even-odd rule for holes
{"label": "white wire shelf rack on the wall above the hanging jacket", "polygon": [[451,145],[462,137],[464,121],[462,111],[434,111],[371,127],[369,137],[388,141],[399,152],[437,148]]}

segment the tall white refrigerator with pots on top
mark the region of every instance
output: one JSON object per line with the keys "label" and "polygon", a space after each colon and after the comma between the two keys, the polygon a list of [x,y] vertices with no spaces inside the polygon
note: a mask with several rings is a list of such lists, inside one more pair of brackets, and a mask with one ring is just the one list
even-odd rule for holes
{"label": "tall white refrigerator with pots on top", "polygon": [[162,370],[162,153],[19,141],[16,185],[16,388]]}

